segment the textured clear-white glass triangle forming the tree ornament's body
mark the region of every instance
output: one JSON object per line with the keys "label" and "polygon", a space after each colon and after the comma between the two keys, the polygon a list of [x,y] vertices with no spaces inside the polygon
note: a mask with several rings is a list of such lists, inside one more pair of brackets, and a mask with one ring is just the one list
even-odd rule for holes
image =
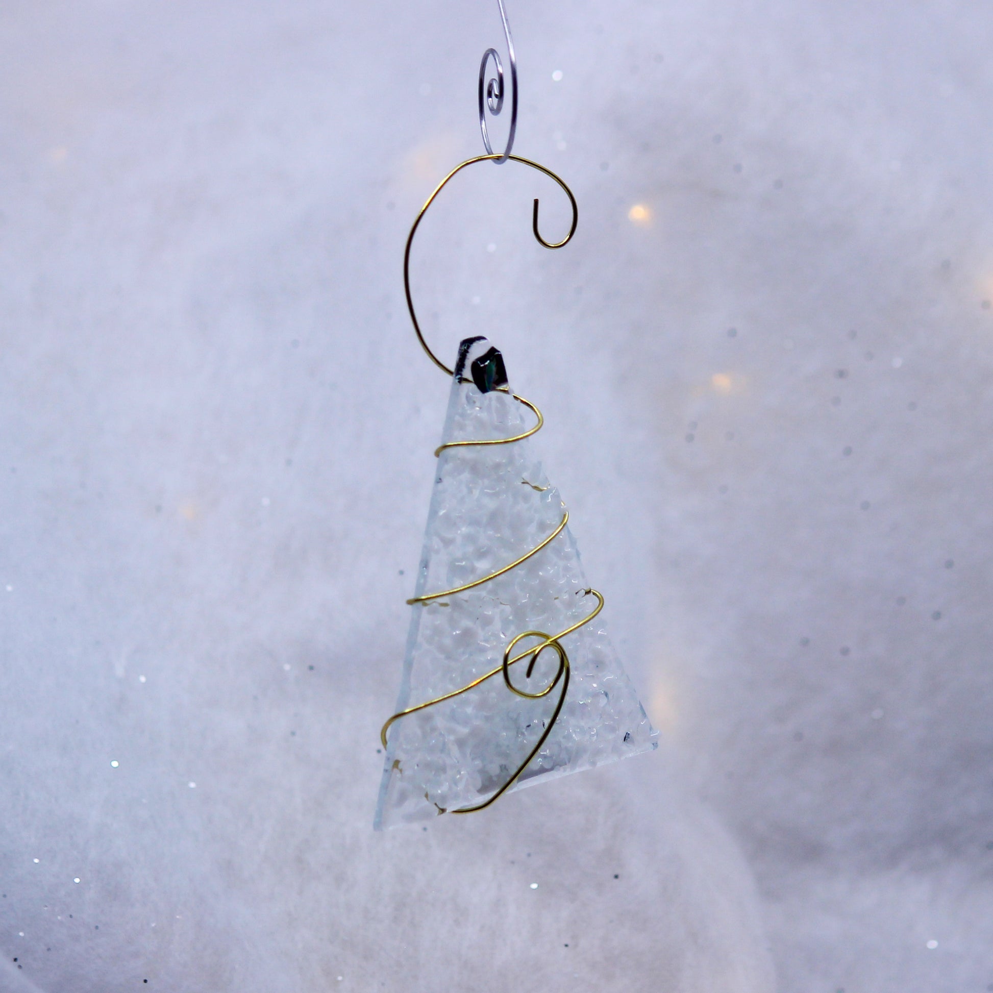
{"label": "textured clear-white glass triangle forming the tree ornament's body", "polygon": [[[490,348],[463,343],[442,442],[508,438],[534,415],[512,394],[481,390],[467,372]],[[532,451],[532,439],[448,448],[438,458],[414,596],[490,575],[547,538],[565,507]],[[568,527],[516,568],[463,593],[415,604],[397,712],[451,693],[500,665],[517,635],[555,635],[597,606]],[[511,788],[591,769],[656,747],[653,731],[603,625],[604,614],[562,638],[570,681],[562,711],[542,748]],[[517,653],[528,643],[519,643]],[[558,658],[546,650],[530,678],[544,688]],[[512,693],[497,674],[450,700],[408,715],[389,729],[375,826],[417,823],[486,800],[537,744],[561,683],[536,700]]]}

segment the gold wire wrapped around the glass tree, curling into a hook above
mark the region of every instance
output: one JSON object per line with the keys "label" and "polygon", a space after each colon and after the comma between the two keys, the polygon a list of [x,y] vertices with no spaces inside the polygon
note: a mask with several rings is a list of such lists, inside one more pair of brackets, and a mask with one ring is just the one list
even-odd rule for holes
{"label": "gold wire wrapped around the glass tree, curling into a hook above", "polygon": [[[576,231],[576,224],[579,220],[579,210],[576,206],[576,198],[573,197],[572,191],[565,185],[565,183],[558,176],[555,175],[555,173],[553,173],[550,169],[546,169],[544,166],[539,165],[537,162],[531,162],[529,159],[522,159],[516,155],[509,155],[506,156],[506,158],[511,162],[520,162],[523,165],[530,166],[532,169],[536,169],[539,172],[544,173],[546,176],[551,177],[565,191],[566,196],[568,196],[569,198],[569,203],[572,206],[572,225],[569,228],[569,233],[561,241],[557,241],[557,242],[546,241],[538,232],[537,199],[535,199],[534,201],[534,211],[531,216],[531,229],[534,233],[535,238],[537,238],[539,243],[544,245],[544,247],[546,248],[561,248],[563,245],[567,244],[569,240],[572,238],[573,234]],[[413,226],[410,228],[410,234],[407,236],[407,244],[403,253],[403,286],[407,295],[407,308],[410,311],[410,320],[413,322],[414,332],[417,335],[417,340],[421,343],[421,348],[424,349],[428,357],[435,363],[435,365],[437,365],[443,372],[446,372],[448,375],[454,375],[455,373],[428,348],[427,342],[425,342],[424,336],[421,333],[420,325],[417,323],[417,315],[414,312],[414,302],[410,293],[410,248],[411,245],[413,244],[414,234],[417,232],[417,227],[420,224],[421,219],[423,218],[424,214],[427,212],[428,208],[432,205],[438,194],[441,193],[442,189],[449,182],[449,180],[451,180],[453,176],[461,172],[467,166],[471,166],[476,162],[487,162],[496,159],[500,159],[502,161],[502,157],[499,155],[481,155],[474,159],[468,159],[466,162],[463,162],[460,165],[456,166],[455,169],[453,169],[441,181],[441,183],[438,184],[434,192],[431,194],[430,197],[428,197],[426,203],[421,208],[420,212],[417,214],[417,218],[414,220]],[[505,386],[498,387],[498,389],[501,392],[507,393],[508,395],[512,396],[514,400],[516,400],[518,403],[523,404],[525,407],[527,407],[530,411],[532,411],[535,414],[535,416],[537,417],[537,423],[534,425],[534,427],[529,428],[527,431],[524,431],[521,434],[513,435],[510,438],[496,438],[486,441],[446,442],[445,444],[440,445],[435,450],[436,457],[440,456],[442,452],[448,449],[460,449],[460,448],[466,448],[477,445],[479,446],[509,445],[512,444],[513,442],[522,441],[524,438],[529,438],[531,435],[541,430],[541,427],[544,424],[544,418],[541,415],[541,411],[538,410],[538,408],[533,403],[531,403],[529,400],[525,400],[522,396],[518,396],[515,393],[510,393]],[[542,540],[537,545],[535,545],[530,551],[525,552],[525,554],[521,555],[520,558],[515,559],[509,565],[505,565],[501,569],[497,569],[496,572],[492,572],[489,575],[483,576],[480,579],[475,579],[472,582],[465,583],[462,586],[454,587],[451,590],[441,590],[438,593],[428,593],[420,597],[414,597],[408,600],[407,603],[415,607],[416,606],[423,607],[431,603],[432,601],[441,599],[442,597],[451,597],[451,596],[456,596],[460,593],[465,593],[467,590],[472,590],[477,586],[482,586],[484,583],[489,583],[491,580],[497,579],[498,576],[505,575],[506,573],[510,572],[510,570],[516,569],[517,566],[521,565],[523,562],[526,562],[529,558],[531,558],[532,555],[536,555],[543,548],[546,548],[549,544],[551,544],[551,542],[554,541],[565,530],[566,524],[568,524],[568,522],[569,522],[569,511],[566,510],[565,507],[563,506],[562,520],[559,522],[555,530],[552,531],[552,533],[549,534],[548,537],[546,537],[544,540]],[[555,726],[555,722],[558,720],[559,714],[562,712],[562,707],[565,703],[566,693],[568,692],[569,689],[569,671],[570,671],[569,655],[566,652],[565,648],[562,647],[561,639],[565,638],[567,635],[571,635],[575,631],[578,631],[584,625],[589,624],[604,609],[604,598],[603,595],[598,590],[586,589],[581,592],[583,596],[594,596],[597,598],[597,606],[589,615],[583,618],[582,621],[579,621],[576,624],[572,625],[571,627],[566,628],[564,631],[558,632],[558,634],[556,635],[549,635],[547,632],[543,632],[543,631],[521,632],[519,635],[513,638],[503,649],[503,657],[497,668],[492,669],[490,672],[487,672],[485,675],[480,676],[478,679],[474,679],[472,682],[467,683],[465,686],[453,690],[451,693],[446,693],[443,696],[435,697],[433,700],[426,700],[424,701],[424,703],[419,703],[414,707],[408,707],[406,710],[401,710],[399,711],[399,713],[393,714],[393,716],[390,717],[385,724],[383,724],[382,730],[379,732],[379,738],[382,742],[383,748],[386,748],[387,747],[386,732],[389,730],[390,726],[395,721],[398,721],[403,717],[407,717],[410,714],[417,713],[418,711],[426,710],[428,707],[433,707],[439,703],[444,703],[446,700],[451,700],[454,697],[461,695],[462,693],[468,693],[470,690],[475,689],[477,686],[486,682],[488,679],[492,679],[499,672],[503,674],[503,683],[506,686],[506,688],[510,690],[510,692],[515,693],[517,696],[524,697],[525,699],[528,700],[538,700],[543,696],[547,696],[559,684],[559,682],[562,683],[562,690],[559,693],[559,698],[555,704],[555,709],[552,712],[551,718],[549,719],[547,725],[545,726],[545,729],[542,732],[541,737],[538,739],[537,743],[528,753],[527,758],[524,759],[524,761],[517,767],[513,775],[508,780],[506,780],[506,782],[504,782],[492,796],[484,800],[482,803],[477,803],[473,806],[468,806],[468,807],[459,807],[458,809],[451,811],[446,811],[445,809],[439,807],[440,813],[446,813],[446,812],[473,813],[477,810],[483,810],[486,807],[490,806],[491,803],[496,801],[503,793],[506,792],[507,789],[510,788],[510,786],[513,785],[514,782],[516,782],[516,780],[520,777],[520,775],[524,772],[524,770],[530,765],[531,760],[541,750],[541,747],[542,745],[544,745],[545,741],[547,741],[548,736],[551,734],[552,728]],[[532,645],[529,648],[525,648],[523,651],[520,651],[517,654],[513,654],[514,648],[525,638],[539,638],[540,640],[539,643]],[[544,689],[538,690],[533,693],[529,692],[528,690],[520,689],[519,687],[515,686],[513,684],[513,681],[510,679],[510,666],[516,664],[517,662],[521,661],[524,658],[529,657],[530,662],[528,663],[527,666],[525,678],[530,679],[531,672],[534,670],[534,666],[538,660],[538,656],[541,654],[542,651],[548,648],[554,651],[558,656],[558,668],[551,682],[547,686],[545,686]]]}

